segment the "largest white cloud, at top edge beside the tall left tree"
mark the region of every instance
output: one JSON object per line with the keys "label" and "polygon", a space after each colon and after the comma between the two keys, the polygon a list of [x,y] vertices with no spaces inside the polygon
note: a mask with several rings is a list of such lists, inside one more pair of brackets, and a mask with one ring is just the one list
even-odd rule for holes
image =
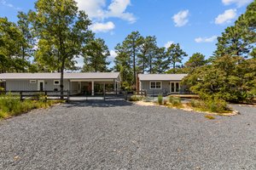
{"label": "largest white cloud, at top edge beside the tall left tree", "polygon": [[112,0],[107,5],[106,0],[76,0],[80,10],[84,10],[92,20],[119,18],[130,23],[136,22],[133,14],[127,13],[126,8],[131,5],[130,0]]}

